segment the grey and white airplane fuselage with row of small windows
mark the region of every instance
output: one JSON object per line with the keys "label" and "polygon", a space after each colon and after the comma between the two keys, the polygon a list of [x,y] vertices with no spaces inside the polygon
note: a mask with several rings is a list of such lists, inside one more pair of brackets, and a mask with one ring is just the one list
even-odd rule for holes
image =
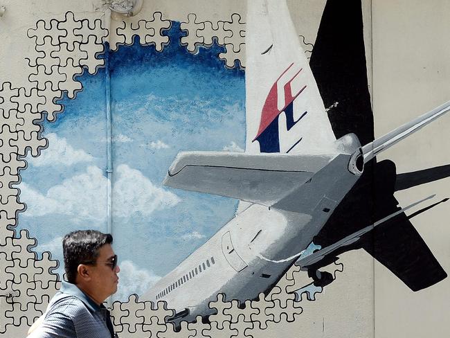
{"label": "grey and white airplane fuselage with row of small windows", "polygon": [[271,290],[361,175],[350,168],[355,154],[336,154],[273,206],[251,204],[143,298],[167,301],[183,312],[180,320],[192,321],[213,314],[208,304],[218,293],[244,302]]}

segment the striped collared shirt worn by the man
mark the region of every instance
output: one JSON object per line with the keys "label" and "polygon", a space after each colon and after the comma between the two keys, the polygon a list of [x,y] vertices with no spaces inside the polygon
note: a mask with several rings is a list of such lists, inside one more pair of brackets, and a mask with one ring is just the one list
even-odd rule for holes
{"label": "striped collared shirt worn by the man", "polygon": [[109,311],[74,284],[62,282],[45,319],[28,338],[114,338]]}

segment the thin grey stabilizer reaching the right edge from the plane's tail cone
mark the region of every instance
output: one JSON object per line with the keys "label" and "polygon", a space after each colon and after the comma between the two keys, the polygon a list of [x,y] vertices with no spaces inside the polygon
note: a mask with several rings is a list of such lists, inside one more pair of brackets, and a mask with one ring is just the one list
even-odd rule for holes
{"label": "thin grey stabilizer reaching the right edge from the plane's tail cone", "polygon": [[377,154],[379,154],[380,152],[390,148],[391,146],[395,145],[395,143],[404,139],[406,136],[413,134],[413,132],[420,130],[420,128],[429,124],[431,121],[434,121],[436,118],[449,112],[449,110],[450,101],[444,103],[440,107],[433,109],[431,112],[423,114],[422,116],[415,118],[415,120],[398,127],[396,130],[393,130],[392,132],[381,136],[379,139],[376,139],[375,141],[364,145],[362,148],[364,163],[367,163],[375,156],[377,156]]}

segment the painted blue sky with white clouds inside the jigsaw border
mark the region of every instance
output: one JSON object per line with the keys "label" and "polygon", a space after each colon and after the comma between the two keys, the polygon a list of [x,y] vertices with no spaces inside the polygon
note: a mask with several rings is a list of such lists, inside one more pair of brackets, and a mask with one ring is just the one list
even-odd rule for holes
{"label": "painted blue sky with white clouds inside the jigsaw border", "polygon": [[[122,291],[143,292],[206,242],[237,201],[161,186],[182,150],[237,150],[245,141],[244,72],[226,69],[222,48],[195,55],[179,45],[179,24],[163,52],[121,46],[110,55],[113,121],[114,249]],[[78,78],[64,113],[44,125],[48,149],[22,172],[19,227],[37,251],[61,259],[61,238],[75,229],[106,231],[105,69]],[[126,287],[125,287],[126,286]]]}

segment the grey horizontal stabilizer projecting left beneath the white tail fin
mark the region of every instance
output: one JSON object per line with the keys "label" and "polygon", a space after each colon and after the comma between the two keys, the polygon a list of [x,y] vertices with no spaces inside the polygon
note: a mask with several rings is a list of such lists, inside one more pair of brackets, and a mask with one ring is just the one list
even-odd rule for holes
{"label": "grey horizontal stabilizer projecting left beneath the white tail fin", "polygon": [[270,206],[335,156],[180,152],[163,184]]}

